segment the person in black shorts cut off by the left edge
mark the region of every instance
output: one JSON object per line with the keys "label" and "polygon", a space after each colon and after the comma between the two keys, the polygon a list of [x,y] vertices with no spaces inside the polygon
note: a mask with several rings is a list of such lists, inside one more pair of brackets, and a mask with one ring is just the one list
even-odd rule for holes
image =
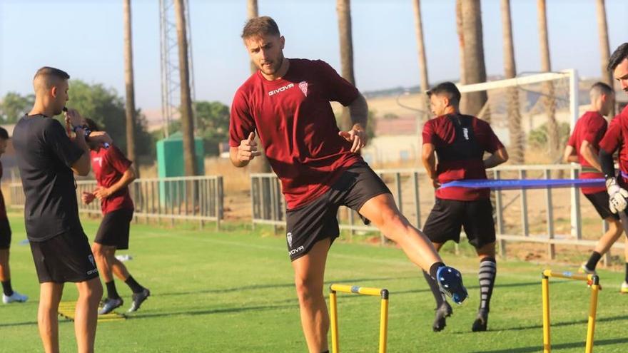
{"label": "person in black shorts cut off by the left edge", "polygon": [[[9,133],[0,128],[0,155],[4,154],[6,144],[9,143]],[[0,179],[2,178],[2,163],[0,163]],[[26,302],[29,297],[21,295],[11,287],[11,269],[9,267],[9,248],[11,247],[11,226],[6,217],[4,196],[0,190],[0,282],[2,282],[2,302]]]}

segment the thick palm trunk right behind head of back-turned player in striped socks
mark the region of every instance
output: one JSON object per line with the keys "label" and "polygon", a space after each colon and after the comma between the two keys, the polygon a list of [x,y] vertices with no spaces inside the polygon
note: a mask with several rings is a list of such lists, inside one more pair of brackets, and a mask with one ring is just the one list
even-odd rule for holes
{"label": "thick palm trunk right behind head of back-turned player in striped socks", "polygon": [[[482,9],[480,0],[462,1],[462,29],[465,50],[465,84],[486,81],[484,63],[484,44],[482,41]],[[480,115],[485,108],[488,97],[486,91],[467,93],[460,107],[462,113]],[[490,121],[490,114],[482,114]]]}

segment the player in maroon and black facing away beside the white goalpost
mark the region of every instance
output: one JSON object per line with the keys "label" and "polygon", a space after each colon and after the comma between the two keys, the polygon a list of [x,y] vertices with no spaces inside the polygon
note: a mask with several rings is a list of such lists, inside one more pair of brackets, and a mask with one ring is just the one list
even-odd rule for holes
{"label": "player in maroon and black facing away beside the white goalpost", "polygon": [[[567,147],[564,149],[564,161],[580,163],[582,173],[580,179],[604,178],[602,167],[599,165],[599,141],[607,131],[606,116],[614,105],[613,89],[606,83],[597,82],[589,91],[591,109],[582,115],[574,127]],[[589,261],[582,264],[579,272],[594,274],[597,262],[602,255],[609,250],[619,237],[624,228],[619,222],[619,216],[611,212],[609,208],[609,195],[604,186],[580,188],[584,197],[589,199],[597,213],[609,224],[609,230],[599,239],[595,250],[589,257]],[[626,259],[628,262],[628,247],[626,247]]]}

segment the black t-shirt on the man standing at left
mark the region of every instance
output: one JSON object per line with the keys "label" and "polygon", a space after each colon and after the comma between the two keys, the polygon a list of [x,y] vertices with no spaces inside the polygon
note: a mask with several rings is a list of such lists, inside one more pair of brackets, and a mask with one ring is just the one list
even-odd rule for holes
{"label": "black t-shirt on the man standing at left", "polygon": [[13,145],[26,195],[24,220],[29,240],[41,242],[64,232],[82,232],[70,167],[83,150],[68,138],[59,121],[42,115],[18,121]]}

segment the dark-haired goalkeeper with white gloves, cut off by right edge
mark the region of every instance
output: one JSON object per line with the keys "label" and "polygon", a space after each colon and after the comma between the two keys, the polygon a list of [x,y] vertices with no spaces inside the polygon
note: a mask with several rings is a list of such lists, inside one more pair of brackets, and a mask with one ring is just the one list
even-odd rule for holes
{"label": "dark-haired goalkeeper with white gloves, cut off by right edge", "polygon": [[[609,58],[608,70],[619,81],[622,90],[628,93],[628,43],[615,49]],[[626,198],[628,198],[628,106],[622,113],[615,116],[609,123],[604,138],[599,142],[599,163],[606,178],[606,187],[609,194],[609,208],[612,213],[626,214]],[[619,175],[615,175],[613,153],[619,150]],[[624,218],[625,220],[625,218]],[[623,221],[623,220],[622,220]],[[624,223],[624,226],[626,224]],[[628,262],[626,262],[626,277],[620,292],[628,293]]]}

